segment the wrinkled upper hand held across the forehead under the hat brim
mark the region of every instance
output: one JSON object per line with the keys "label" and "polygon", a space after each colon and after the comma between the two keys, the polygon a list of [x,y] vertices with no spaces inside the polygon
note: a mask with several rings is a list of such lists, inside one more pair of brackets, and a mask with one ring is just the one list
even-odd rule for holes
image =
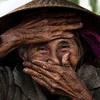
{"label": "wrinkled upper hand held across the forehead under the hat brim", "polygon": [[[33,19],[26,16],[19,25],[1,35],[0,57],[4,57],[22,44],[46,42],[55,38],[65,38],[66,31],[79,29],[83,26],[81,18],[70,12],[63,19]],[[59,16],[58,16],[59,17]]]}

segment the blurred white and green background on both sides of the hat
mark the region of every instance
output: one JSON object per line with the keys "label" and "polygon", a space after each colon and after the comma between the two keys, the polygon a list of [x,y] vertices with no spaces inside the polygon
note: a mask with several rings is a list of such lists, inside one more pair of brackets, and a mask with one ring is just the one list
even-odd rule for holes
{"label": "blurred white and green background on both sides of the hat", "polygon": [[[30,2],[31,0],[0,0],[0,17],[7,14],[11,10]],[[100,14],[100,0],[69,0],[84,8]]]}

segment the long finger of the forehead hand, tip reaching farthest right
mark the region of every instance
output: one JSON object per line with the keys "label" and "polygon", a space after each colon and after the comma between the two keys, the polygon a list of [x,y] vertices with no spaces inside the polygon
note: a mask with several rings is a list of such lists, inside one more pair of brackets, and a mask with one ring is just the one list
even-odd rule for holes
{"label": "long finger of the forehead hand, tip reaching farthest right", "polygon": [[[39,25],[42,25],[41,28],[38,28]],[[37,27],[34,29],[35,32],[53,32],[53,31],[64,31],[64,30],[75,30],[83,27],[83,23],[80,22],[80,19],[61,19],[61,20],[51,20],[47,23],[37,24]]]}

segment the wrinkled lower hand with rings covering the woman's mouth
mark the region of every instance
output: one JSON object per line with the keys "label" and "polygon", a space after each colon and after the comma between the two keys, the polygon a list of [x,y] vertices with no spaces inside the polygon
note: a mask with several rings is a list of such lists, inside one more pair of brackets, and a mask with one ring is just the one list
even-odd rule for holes
{"label": "wrinkled lower hand with rings covering the woman's mouth", "polygon": [[24,66],[26,74],[53,94],[69,96],[72,100],[91,100],[92,98],[84,82],[71,66],[52,65],[37,60],[32,63],[24,62]]}

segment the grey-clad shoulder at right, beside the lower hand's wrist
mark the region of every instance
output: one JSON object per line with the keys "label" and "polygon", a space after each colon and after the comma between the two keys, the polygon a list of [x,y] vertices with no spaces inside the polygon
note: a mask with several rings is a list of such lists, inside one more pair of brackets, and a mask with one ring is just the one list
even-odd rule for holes
{"label": "grey-clad shoulder at right, beside the lower hand's wrist", "polygon": [[77,71],[77,74],[85,82],[89,90],[100,87],[100,68],[84,64]]}

